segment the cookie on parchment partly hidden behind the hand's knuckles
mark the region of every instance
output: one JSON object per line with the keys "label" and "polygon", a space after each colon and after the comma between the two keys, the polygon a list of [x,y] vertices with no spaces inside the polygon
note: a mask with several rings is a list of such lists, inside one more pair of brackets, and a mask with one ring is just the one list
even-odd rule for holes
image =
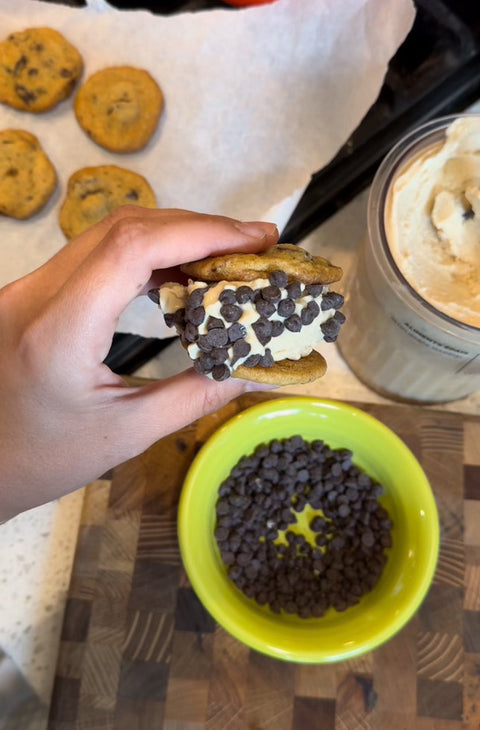
{"label": "cookie on parchment partly hidden behind the hand's knuckles", "polygon": [[68,181],[60,228],[68,239],[74,238],[121,205],[156,208],[155,193],[147,180],[116,165],[84,167]]}

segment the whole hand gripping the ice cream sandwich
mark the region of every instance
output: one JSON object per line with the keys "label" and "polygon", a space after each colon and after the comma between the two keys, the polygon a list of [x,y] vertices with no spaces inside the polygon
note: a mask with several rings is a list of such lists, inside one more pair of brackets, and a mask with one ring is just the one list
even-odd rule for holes
{"label": "whole hand gripping the ice cream sandwich", "polygon": [[118,318],[187,261],[276,243],[272,223],[120,208],[0,290],[0,521],[60,497],[240,395],[193,369],[127,387],[104,363]]}

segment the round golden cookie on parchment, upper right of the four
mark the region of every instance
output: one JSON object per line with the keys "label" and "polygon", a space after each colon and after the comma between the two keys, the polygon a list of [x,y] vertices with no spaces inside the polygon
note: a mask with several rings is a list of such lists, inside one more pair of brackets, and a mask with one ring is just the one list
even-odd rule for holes
{"label": "round golden cookie on parchment, upper right of the four", "polygon": [[147,71],[112,66],[97,71],[75,98],[80,126],[111,152],[140,150],[153,135],[163,109],[163,94]]}

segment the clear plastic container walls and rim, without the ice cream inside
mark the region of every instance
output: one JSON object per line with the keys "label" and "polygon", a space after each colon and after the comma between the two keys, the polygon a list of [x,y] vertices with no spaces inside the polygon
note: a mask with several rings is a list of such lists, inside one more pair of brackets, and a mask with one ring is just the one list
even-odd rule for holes
{"label": "clear plastic container walls and rim, without the ice cream inside", "polygon": [[459,116],[415,129],[384,159],[370,191],[367,233],[345,284],[340,352],[361,381],[394,399],[439,403],[480,389],[480,328],[438,311],[415,291],[392,257],[384,223],[392,181],[412,157],[441,142]]}

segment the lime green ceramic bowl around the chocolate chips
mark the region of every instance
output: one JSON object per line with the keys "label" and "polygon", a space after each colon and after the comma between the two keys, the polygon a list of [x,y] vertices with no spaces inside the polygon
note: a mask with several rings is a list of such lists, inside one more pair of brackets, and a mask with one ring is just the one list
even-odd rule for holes
{"label": "lime green ceramic bowl around the chocolate chips", "polygon": [[[384,485],[381,501],[394,522],[393,547],[375,588],[356,606],[322,618],[274,614],[248,599],[228,578],[214,539],[217,490],[232,467],[259,443],[295,434],[351,449],[354,462]],[[316,398],[273,399],[220,427],[187,474],[178,527],[185,570],[213,618],[259,652],[304,663],[347,659],[391,638],[422,602],[439,549],[435,501],[412,452],[372,416]]]}

